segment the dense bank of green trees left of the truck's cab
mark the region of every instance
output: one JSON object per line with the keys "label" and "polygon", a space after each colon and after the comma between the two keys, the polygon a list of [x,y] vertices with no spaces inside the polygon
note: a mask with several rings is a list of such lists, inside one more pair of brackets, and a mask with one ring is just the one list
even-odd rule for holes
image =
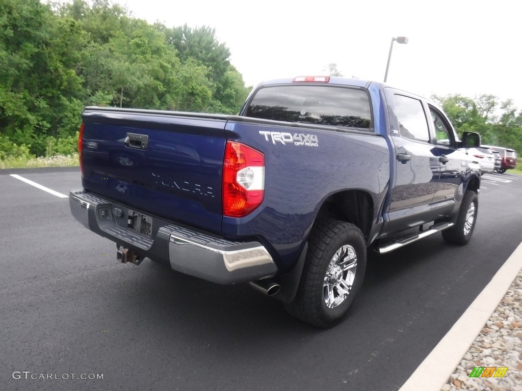
{"label": "dense bank of green trees left of the truck's cab", "polygon": [[0,2],[0,159],[75,149],[86,105],[237,113],[248,89],[209,27],[109,0]]}

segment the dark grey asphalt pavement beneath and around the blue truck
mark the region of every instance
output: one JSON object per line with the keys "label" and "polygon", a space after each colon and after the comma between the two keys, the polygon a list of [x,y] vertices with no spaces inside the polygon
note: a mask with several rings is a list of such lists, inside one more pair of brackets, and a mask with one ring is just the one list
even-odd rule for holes
{"label": "dark grey asphalt pavement beneath and around the blue truck", "polygon": [[81,188],[78,168],[0,172],[2,390],[397,390],[522,241],[522,177],[486,175],[467,246],[371,254],[349,316],[321,330],[246,284],[116,262],[67,198],[9,174]]}

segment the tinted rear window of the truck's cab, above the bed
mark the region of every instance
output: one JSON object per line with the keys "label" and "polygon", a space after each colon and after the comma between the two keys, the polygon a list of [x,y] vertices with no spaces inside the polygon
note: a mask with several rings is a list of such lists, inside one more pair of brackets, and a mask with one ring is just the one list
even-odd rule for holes
{"label": "tinted rear window of the truck's cab, above the bed", "polygon": [[340,85],[272,85],[260,88],[247,117],[373,131],[367,91]]}

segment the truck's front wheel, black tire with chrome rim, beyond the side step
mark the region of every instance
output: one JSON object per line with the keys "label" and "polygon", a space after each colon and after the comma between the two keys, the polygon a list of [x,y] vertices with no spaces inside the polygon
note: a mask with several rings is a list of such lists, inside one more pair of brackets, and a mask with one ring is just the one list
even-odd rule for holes
{"label": "truck's front wheel, black tire with chrome rim, beyond the side step", "polygon": [[458,211],[457,222],[453,227],[442,231],[442,238],[453,245],[466,245],[473,235],[478,210],[479,198],[477,193],[466,190]]}

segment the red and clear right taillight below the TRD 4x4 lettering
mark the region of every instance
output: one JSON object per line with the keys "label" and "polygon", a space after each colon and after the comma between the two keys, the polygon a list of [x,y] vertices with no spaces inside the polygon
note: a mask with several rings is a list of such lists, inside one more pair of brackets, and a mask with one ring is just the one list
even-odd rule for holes
{"label": "red and clear right taillight below the TRD 4x4 lettering", "polygon": [[263,202],[265,155],[250,146],[227,141],[223,158],[223,215],[244,217]]}

